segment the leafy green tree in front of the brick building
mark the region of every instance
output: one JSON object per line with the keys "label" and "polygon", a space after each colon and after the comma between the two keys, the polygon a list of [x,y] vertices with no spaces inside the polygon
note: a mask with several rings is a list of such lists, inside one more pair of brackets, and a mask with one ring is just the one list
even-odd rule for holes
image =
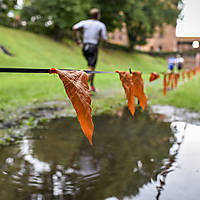
{"label": "leafy green tree in front of the brick building", "polygon": [[164,24],[176,24],[180,14],[178,4],[181,0],[127,0],[123,9],[124,22],[127,25],[129,48],[145,44],[157,27]]}

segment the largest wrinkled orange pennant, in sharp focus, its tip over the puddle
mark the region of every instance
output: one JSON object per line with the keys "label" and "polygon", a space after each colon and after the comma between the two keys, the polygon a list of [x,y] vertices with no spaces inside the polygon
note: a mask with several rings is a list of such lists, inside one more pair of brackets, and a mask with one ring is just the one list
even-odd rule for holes
{"label": "largest wrinkled orange pennant, in sharp focus, its tip over the puddle", "polygon": [[92,122],[91,94],[88,75],[83,71],[64,71],[52,68],[50,73],[57,73],[62,80],[65,91],[77,113],[83,133],[92,144],[94,125]]}

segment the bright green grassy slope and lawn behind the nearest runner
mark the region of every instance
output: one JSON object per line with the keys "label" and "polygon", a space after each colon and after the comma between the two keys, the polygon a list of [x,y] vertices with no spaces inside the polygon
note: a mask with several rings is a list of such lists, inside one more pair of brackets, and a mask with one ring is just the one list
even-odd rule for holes
{"label": "bright green grassy slope and lawn behind the nearest runner", "polygon": [[[73,42],[61,44],[44,36],[8,29],[0,26],[0,45],[4,45],[13,57],[0,52],[0,67],[68,67],[86,69],[81,49]],[[102,71],[164,71],[166,63],[138,53],[101,49],[96,70]],[[145,76],[146,79],[148,78]],[[123,90],[117,74],[99,74],[95,77],[99,93],[93,99],[93,106],[100,108],[121,100]],[[120,94],[120,95],[119,95]],[[0,74],[0,109],[16,110],[36,102],[65,100],[63,85],[56,75],[49,74]],[[112,100],[114,101],[112,101]]]}

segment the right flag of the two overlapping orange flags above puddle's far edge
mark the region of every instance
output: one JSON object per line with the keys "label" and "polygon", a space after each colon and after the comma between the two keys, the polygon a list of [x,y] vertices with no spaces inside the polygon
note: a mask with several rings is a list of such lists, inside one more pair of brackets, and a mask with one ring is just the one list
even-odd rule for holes
{"label": "right flag of the two overlapping orange flags above puddle's far edge", "polygon": [[133,72],[132,81],[133,81],[133,87],[131,88],[131,93],[133,93],[133,95],[138,98],[139,104],[144,110],[147,104],[147,97],[144,93],[144,83],[142,80],[142,73]]}

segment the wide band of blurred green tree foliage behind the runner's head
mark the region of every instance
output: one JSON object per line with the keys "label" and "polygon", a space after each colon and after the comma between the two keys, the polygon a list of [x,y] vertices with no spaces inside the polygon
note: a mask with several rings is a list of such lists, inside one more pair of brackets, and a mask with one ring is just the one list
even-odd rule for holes
{"label": "wide band of blurred green tree foliage behind the runner's head", "polygon": [[175,24],[182,0],[32,0],[22,10],[22,20],[35,32],[51,33],[57,38],[66,35],[66,29],[89,17],[89,10],[97,7],[108,31],[125,22],[130,49],[144,44],[164,23]]}

